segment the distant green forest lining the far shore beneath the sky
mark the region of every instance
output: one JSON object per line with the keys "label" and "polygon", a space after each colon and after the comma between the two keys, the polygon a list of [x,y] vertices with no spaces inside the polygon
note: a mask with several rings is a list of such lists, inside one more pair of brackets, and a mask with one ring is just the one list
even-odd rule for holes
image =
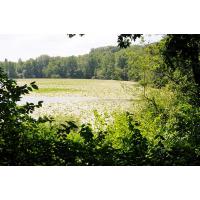
{"label": "distant green forest lining the far shore beneath the sky", "polygon": [[141,79],[140,62],[145,46],[127,49],[107,46],[92,49],[89,54],[69,57],[41,55],[36,59],[0,62],[9,78],[78,78],[78,79]]}

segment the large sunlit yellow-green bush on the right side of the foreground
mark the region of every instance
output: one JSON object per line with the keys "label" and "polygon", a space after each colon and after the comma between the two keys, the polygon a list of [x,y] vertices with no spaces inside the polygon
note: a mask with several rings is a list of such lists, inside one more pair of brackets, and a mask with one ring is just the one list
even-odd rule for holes
{"label": "large sunlit yellow-green bush on the right side of the foreground", "polygon": [[199,165],[200,108],[179,91],[151,90],[138,112],[141,134],[149,141],[150,165]]}

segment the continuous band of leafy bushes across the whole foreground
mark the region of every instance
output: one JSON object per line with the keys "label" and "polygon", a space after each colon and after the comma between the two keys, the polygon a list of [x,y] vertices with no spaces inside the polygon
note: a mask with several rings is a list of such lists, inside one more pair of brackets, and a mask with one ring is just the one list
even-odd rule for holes
{"label": "continuous band of leafy bushes across the whole foreground", "polygon": [[17,102],[33,89],[0,73],[0,165],[200,165],[200,109],[168,87],[134,115],[95,112],[95,127],[32,118],[42,102]]}

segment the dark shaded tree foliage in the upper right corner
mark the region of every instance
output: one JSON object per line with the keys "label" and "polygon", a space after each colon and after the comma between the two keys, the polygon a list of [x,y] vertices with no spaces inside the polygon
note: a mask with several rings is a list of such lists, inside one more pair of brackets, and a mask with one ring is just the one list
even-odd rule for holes
{"label": "dark shaded tree foliage in the upper right corner", "polygon": [[192,71],[195,83],[200,88],[200,35],[169,34],[162,52],[167,66],[184,74]]}

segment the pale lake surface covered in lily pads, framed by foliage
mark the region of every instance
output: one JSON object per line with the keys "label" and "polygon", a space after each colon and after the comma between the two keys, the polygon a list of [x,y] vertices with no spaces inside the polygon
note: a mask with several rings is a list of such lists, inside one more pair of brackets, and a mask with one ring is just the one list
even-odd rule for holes
{"label": "pale lake surface covered in lily pads, framed by foliage", "polygon": [[132,110],[141,88],[135,82],[89,79],[18,79],[19,85],[36,81],[39,90],[23,97],[20,103],[44,101],[33,115],[76,116],[83,122],[93,111],[110,113]]}

